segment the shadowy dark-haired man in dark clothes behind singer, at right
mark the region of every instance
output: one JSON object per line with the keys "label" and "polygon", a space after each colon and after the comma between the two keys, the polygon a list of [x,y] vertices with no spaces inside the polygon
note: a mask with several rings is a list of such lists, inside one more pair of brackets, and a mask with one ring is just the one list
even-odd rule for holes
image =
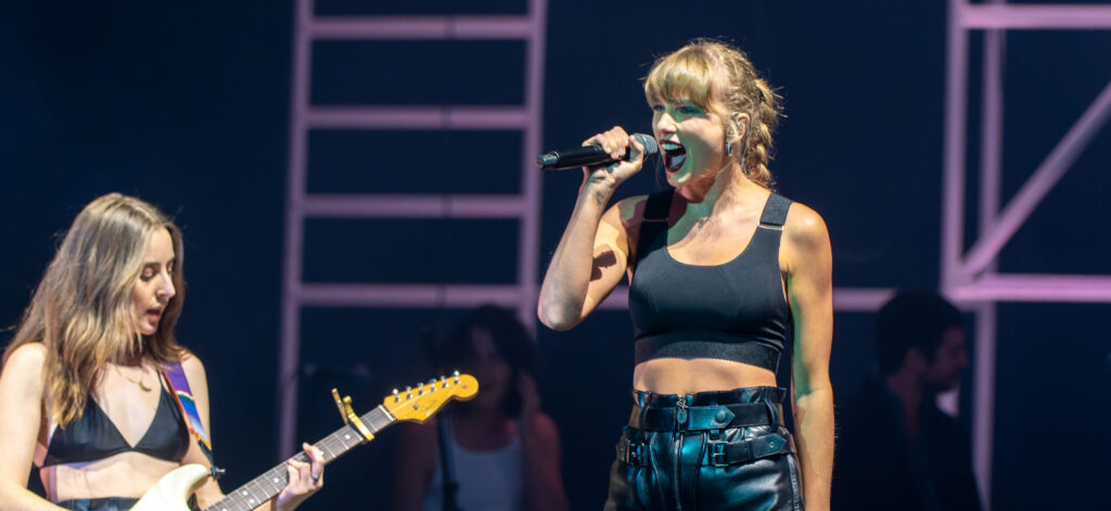
{"label": "shadowy dark-haired man in dark clothes behind singer, at right", "polygon": [[937,405],[968,365],[960,311],[932,291],[903,291],[875,320],[879,374],[841,414],[834,510],[979,510],[971,447]]}

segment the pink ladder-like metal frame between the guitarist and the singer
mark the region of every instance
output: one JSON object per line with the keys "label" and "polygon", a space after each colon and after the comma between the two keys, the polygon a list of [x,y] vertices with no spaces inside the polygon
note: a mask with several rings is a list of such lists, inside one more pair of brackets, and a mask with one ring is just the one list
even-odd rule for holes
{"label": "pink ladder-like metal frame between the guitarist and the singer", "polygon": [[[303,307],[468,308],[496,302],[534,324],[538,294],[547,0],[529,0],[524,14],[317,16],[313,0],[294,2],[290,90],[289,178],[282,284],[281,352],[277,388],[278,452],[296,449]],[[320,40],[521,40],[526,42],[521,106],[314,106],[310,87],[312,43]],[[313,129],[520,130],[521,192],[483,194],[309,193],[308,144]],[[302,280],[308,218],[438,218],[518,220],[516,284],[309,283]]]}

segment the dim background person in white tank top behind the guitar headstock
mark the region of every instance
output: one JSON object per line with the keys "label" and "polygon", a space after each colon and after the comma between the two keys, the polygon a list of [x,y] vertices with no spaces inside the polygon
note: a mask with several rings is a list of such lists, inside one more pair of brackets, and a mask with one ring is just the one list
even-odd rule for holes
{"label": "dim background person in white tank top behind the guitar headstock", "polygon": [[473,374],[481,391],[403,430],[393,509],[449,509],[441,458],[447,452],[457,510],[567,511],[559,431],[540,411],[536,344],[513,311],[493,305],[472,311],[444,339],[437,359]]}

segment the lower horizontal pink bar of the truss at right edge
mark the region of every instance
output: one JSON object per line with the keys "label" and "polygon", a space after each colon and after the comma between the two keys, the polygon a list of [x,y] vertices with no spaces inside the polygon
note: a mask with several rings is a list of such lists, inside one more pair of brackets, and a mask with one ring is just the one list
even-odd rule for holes
{"label": "lower horizontal pink bar of the truss at right edge", "polygon": [[989,274],[949,295],[963,302],[1111,303],[1111,275]]}

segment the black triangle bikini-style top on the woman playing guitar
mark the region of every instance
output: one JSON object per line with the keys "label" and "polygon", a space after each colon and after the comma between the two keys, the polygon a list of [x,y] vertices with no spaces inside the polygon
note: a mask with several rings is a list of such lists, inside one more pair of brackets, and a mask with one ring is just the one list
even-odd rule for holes
{"label": "black triangle bikini-style top on the woman playing guitar", "polygon": [[42,467],[102,460],[121,452],[141,452],[167,461],[181,461],[189,450],[189,430],[173,398],[162,388],[158,410],[139,443],[131,445],[112,420],[90,397],[81,419],[57,428]]}

